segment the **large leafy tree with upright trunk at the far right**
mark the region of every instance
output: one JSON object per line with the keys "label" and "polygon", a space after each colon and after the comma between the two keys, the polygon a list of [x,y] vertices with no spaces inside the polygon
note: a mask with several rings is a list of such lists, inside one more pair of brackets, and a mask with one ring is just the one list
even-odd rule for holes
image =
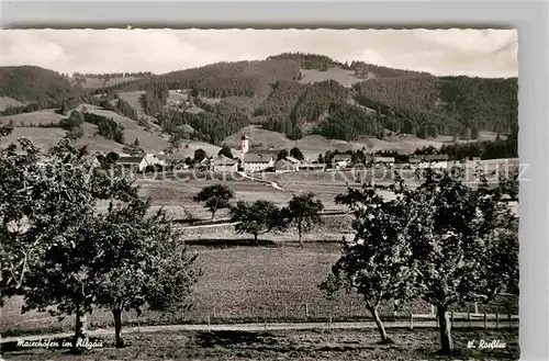
{"label": "large leafy tree with upright trunk at the far right", "polygon": [[422,297],[437,307],[444,352],[453,348],[451,304],[488,302],[518,281],[517,255],[508,253],[518,249],[516,216],[484,176],[472,189],[462,172],[426,169],[416,190],[402,192],[413,218],[405,238],[412,245],[416,283]]}

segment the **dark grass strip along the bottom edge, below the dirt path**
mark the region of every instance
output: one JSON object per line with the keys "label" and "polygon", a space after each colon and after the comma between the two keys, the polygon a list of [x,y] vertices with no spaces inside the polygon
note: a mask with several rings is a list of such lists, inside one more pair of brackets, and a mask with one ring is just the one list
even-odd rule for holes
{"label": "dark grass strip along the bottom edge, below the dirt path", "polygon": [[[438,330],[391,331],[394,345],[378,343],[376,330],[333,331],[177,331],[132,334],[127,347],[115,349],[108,337],[103,348],[75,356],[66,350],[26,349],[5,345],[8,360],[517,360],[518,330],[455,331],[457,352],[439,356]],[[504,349],[467,349],[469,340],[500,340]]]}

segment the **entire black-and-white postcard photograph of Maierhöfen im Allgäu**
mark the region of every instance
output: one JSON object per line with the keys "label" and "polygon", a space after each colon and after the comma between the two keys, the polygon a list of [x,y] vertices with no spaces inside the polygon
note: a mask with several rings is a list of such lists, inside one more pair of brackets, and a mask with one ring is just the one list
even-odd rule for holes
{"label": "entire black-and-white postcard photograph of Maierh\u00f6fen im Allg\u00e4u", "polygon": [[0,35],[0,360],[519,359],[516,30]]}

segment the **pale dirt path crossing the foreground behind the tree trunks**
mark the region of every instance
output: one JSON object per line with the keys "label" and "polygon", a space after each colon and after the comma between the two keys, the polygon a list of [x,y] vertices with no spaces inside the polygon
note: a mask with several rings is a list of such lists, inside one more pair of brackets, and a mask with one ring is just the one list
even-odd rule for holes
{"label": "pale dirt path crossing the foreground behind the tree trunks", "polygon": [[[386,321],[385,328],[408,328],[408,320],[396,320]],[[367,320],[361,323],[333,323],[329,325],[326,323],[255,323],[255,324],[224,324],[224,325],[168,325],[168,326],[143,326],[143,327],[124,327],[122,329],[123,334],[135,334],[135,332],[164,332],[164,331],[269,331],[269,330],[312,330],[320,329],[322,331],[327,331],[329,329],[374,329],[376,323],[373,320]],[[413,323],[414,328],[437,328],[436,320],[417,320]],[[467,320],[456,321],[452,328],[483,328],[483,320],[471,320],[470,324]],[[509,328],[518,327],[518,319],[514,319],[513,323],[501,321],[496,325],[495,321],[488,321],[486,328]],[[99,328],[90,330],[89,336],[108,336],[114,335],[113,328]],[[55,338],[66,338],[72,337],[72,332],[63,334],[49,334],[49,335],[34,335],[34,336],[22,336],[22,337],[5,337],[0,338],[0,343],[5,342],[16,342],[19,340],[45,340]]]}

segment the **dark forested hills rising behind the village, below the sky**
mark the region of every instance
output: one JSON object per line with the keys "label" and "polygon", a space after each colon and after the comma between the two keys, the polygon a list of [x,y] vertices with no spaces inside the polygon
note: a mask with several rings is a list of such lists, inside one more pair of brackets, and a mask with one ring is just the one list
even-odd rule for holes
{"label": "dark forested hills rising behind the village, below the sky", "polygon": [[[302,83],[301,71],[314,77]],[[355,80],[341,84],[328,76],[323,78],[323,74],[334,77],[338,71]],[[217,145],[250,124],[291,139],[318,134],[355,140],[382,138],[386,129],[421,138],[475,139],[481,131],[508,134],[518,123],[516,78],[435,77],[304,53],[147,74],[93,90],[71,87],[65,77],[37,67],[0,68],[0,97],[27,103],[5,109],[4,115],[44,109],[45,104],[66,112],[78,103],[107,108],[111,103],[113,111],[136,122],[148,116],[175,137],[192,136]],[[128,92],[139,94],[139,109],[136,103],[115,101]],[[195,132],[189,134],[190,128]]]}

